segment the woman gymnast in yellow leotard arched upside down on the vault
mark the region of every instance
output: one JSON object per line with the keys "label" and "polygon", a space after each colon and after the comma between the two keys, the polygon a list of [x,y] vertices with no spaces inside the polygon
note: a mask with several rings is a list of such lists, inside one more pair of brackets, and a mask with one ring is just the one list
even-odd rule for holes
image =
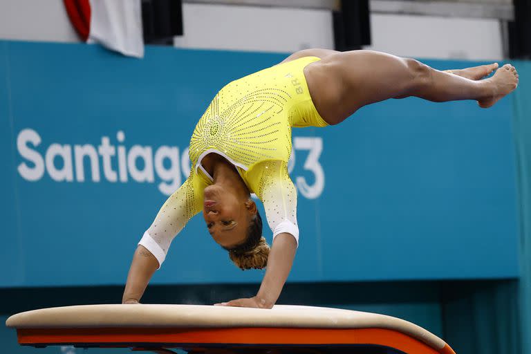
{"label": "woman gymnast in yellow leotard arched upside down on the vault", "polygon": [[[476,100],[488,108],[517,84],[518,73],[510,64],[445,72],[371,50],[326,49],[301,50],[230,82],[194,129],[189,178],[162,205],[138,243],[122,303],[138,304],[171,241],[203,212],[209,234],[239,268],[267,265],[255,297],[218,305],[271,308],[299,243],[297,192],[288,176],[292,127],[339,124],[362,106],[389,98]],[[253,192],[273,232],[271,248],[262,236]]]}

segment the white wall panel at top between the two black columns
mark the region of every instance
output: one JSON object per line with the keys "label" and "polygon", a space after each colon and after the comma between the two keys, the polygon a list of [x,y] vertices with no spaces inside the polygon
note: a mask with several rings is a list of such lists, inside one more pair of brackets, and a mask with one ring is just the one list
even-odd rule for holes
{"label": "white wall panel at top between the two black columns", "polygon": [[293,52],[334,43],[328,10],[185,3],[183,17],[180,48]]}

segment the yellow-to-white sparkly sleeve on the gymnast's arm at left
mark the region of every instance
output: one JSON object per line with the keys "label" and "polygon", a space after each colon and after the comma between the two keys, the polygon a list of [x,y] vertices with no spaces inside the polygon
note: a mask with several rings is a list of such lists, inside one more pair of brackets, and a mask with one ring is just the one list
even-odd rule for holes
{"label": "yellow-to-white sparkly sleeve on the gymnast's arm at left", "polygon": [[190,174],[185,183],[169,196],[138,243],[156,257],[158,268],[166,258],[171,241],[189,219],[201,211],[201,191],[196,190],[200,188],[194,179],[197,178],[194,178],[193,173]]}

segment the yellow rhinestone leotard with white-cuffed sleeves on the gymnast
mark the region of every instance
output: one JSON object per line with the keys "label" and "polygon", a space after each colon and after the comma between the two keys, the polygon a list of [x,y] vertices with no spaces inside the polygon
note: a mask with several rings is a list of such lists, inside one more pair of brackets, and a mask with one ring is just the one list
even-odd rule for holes
{"label": "yellow rhinestone leotard with white-cuffed sleeves on the gymnast", "polygon": [[162,205],[140,240],[162,264],[169,245],[203,209],[203,189],[213,182],[201,165],[209,153],[229,160],[265,207],[273,237],[299,239],[297,192],[288,176],[292,127],[328,125],[313,105],[303,69],[319,60],[303,57],[227,84],[199,120],[189,145],[189,178]]}

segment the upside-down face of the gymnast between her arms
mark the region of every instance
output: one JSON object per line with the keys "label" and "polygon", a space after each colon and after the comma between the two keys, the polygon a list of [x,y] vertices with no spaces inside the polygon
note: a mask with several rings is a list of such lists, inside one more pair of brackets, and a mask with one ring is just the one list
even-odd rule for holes
{"label": "upside-down face of the gymnast between her arms", "polygon": [[243,243],[252,217],[248,200],[239,200],[219,185],[209,185],[204,193],[203,217],[214,241],[223,248]]}

